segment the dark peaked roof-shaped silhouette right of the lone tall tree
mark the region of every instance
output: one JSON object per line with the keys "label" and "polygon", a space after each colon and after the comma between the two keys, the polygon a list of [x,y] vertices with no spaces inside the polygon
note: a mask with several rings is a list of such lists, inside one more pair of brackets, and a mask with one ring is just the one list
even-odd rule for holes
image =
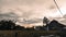
{"label": "dark peaked roof-shaped silhouette right of the lone tall tree", "polygon": [[50,29],[62,29],[65,25],[58,23],[57,21],[53,20],[50,24],[47,24]]}

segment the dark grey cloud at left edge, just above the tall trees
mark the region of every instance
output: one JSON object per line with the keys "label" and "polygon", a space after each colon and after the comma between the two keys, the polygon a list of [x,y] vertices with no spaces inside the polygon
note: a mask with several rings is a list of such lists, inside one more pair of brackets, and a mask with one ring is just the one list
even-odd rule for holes
{"label": "dark grey cloud at left edge, just above the tall trees", "polygon": [[[6,13],[6,14],[1,14],[0,13],[0,20],[15,20],[19,16],[15,15],[14,13]],[[16,20],[15,20],[16,21]]]}

